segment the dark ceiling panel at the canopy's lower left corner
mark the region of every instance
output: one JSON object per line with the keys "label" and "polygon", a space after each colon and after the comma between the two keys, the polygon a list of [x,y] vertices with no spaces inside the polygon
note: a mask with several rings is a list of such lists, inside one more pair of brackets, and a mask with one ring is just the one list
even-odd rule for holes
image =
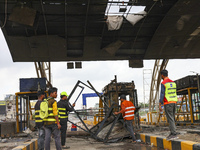
{"label": "dark ceiling panel at the canopy's lower left corner", "polygon": [[67,56],[65,39],[58,36],[8,36],[8,39],[15,61],[64,61]]}

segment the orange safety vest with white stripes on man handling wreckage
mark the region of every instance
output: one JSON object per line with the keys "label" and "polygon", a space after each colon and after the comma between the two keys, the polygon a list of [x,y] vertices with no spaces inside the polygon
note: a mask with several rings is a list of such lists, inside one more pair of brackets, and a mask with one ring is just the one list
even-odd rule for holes
{"label": "orange safety vest with white stripes on man handling wreckage", "polygon": [[122,105],[125,106],[125,113],[123,113],[124,120],[133,120],[135,112],[135,106],[133,103],[131,101],[125,100]]}

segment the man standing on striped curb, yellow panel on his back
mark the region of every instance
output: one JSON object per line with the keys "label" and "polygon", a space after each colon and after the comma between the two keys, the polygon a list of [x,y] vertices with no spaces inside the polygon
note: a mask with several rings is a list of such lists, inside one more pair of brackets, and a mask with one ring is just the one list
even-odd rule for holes
{"label": "man standing on striped curb, yellow panel on his back", "polygon": [[162,104],[164,102],[164,110],[169,123],[170,134],[167,136],[167,140],[177,139],[176,125],[175,125],[175,109],[177,94],[176,94],[176,83],[168,78],[168,71],[162,70],[160,72],[161,78],[161,92],[159,100],[159,110],[163,111]]}

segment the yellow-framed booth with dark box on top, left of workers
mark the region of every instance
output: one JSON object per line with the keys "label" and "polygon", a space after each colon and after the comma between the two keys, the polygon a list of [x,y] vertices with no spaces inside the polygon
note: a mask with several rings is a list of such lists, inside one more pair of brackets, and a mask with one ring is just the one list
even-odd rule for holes
{"label": "yellow-framed booth with dark box on top, left of workers", "polygon": [[30,126],[34,126],[31,101],[36,101],[38,89],[46,93],[46,78],[22,78],[20,79],[20,92],[16,96],[16,130],[22,132]]}

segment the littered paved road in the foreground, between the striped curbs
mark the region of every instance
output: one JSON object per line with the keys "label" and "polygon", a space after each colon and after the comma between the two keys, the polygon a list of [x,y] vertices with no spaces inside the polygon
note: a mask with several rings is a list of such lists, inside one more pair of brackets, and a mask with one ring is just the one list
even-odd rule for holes
{"label": "littered paved road in the foreground, between the striped curbs", "polygon": [[[129,143],[129,140],[104,144],[88,137],[67,137],[67,145],[70,146],[70,150],[163,150],[142,143],[132,144]],[[56,150],[53,140],[51,141],[51,150]]]}

